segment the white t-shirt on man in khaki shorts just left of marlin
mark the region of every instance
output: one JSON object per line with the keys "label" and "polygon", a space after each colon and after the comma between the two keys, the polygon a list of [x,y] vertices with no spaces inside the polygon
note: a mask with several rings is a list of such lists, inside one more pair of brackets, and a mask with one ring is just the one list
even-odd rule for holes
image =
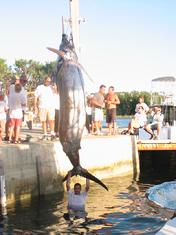
{"label": "white t-shirt on man in khaki shorts just left of marlin", "polygon": [[50,86],[39,85],[35,90],[35,97],[39,99],[39,108],[53,108],[54,94]]}

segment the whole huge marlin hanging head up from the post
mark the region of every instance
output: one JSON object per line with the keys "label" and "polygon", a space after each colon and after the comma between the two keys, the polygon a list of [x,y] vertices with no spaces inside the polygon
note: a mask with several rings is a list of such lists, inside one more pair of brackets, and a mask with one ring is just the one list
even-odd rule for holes
{"label": "whole huge marlin hanging head up from the post", "polygon": [[[83,67],[78,62],[74,44],[72,40],[68,40],[66,34],[63,34],[59,50],[50,47],[48,49],[59,56],[56,69],[56,85],[60,95],[59,138],[63,151],[73,165],[71,176],[83,176],[108,190],[102,181],[80,165],[79,149],[86,122],[86,99]],[[68,174],[63,181],[67,177]]]}

